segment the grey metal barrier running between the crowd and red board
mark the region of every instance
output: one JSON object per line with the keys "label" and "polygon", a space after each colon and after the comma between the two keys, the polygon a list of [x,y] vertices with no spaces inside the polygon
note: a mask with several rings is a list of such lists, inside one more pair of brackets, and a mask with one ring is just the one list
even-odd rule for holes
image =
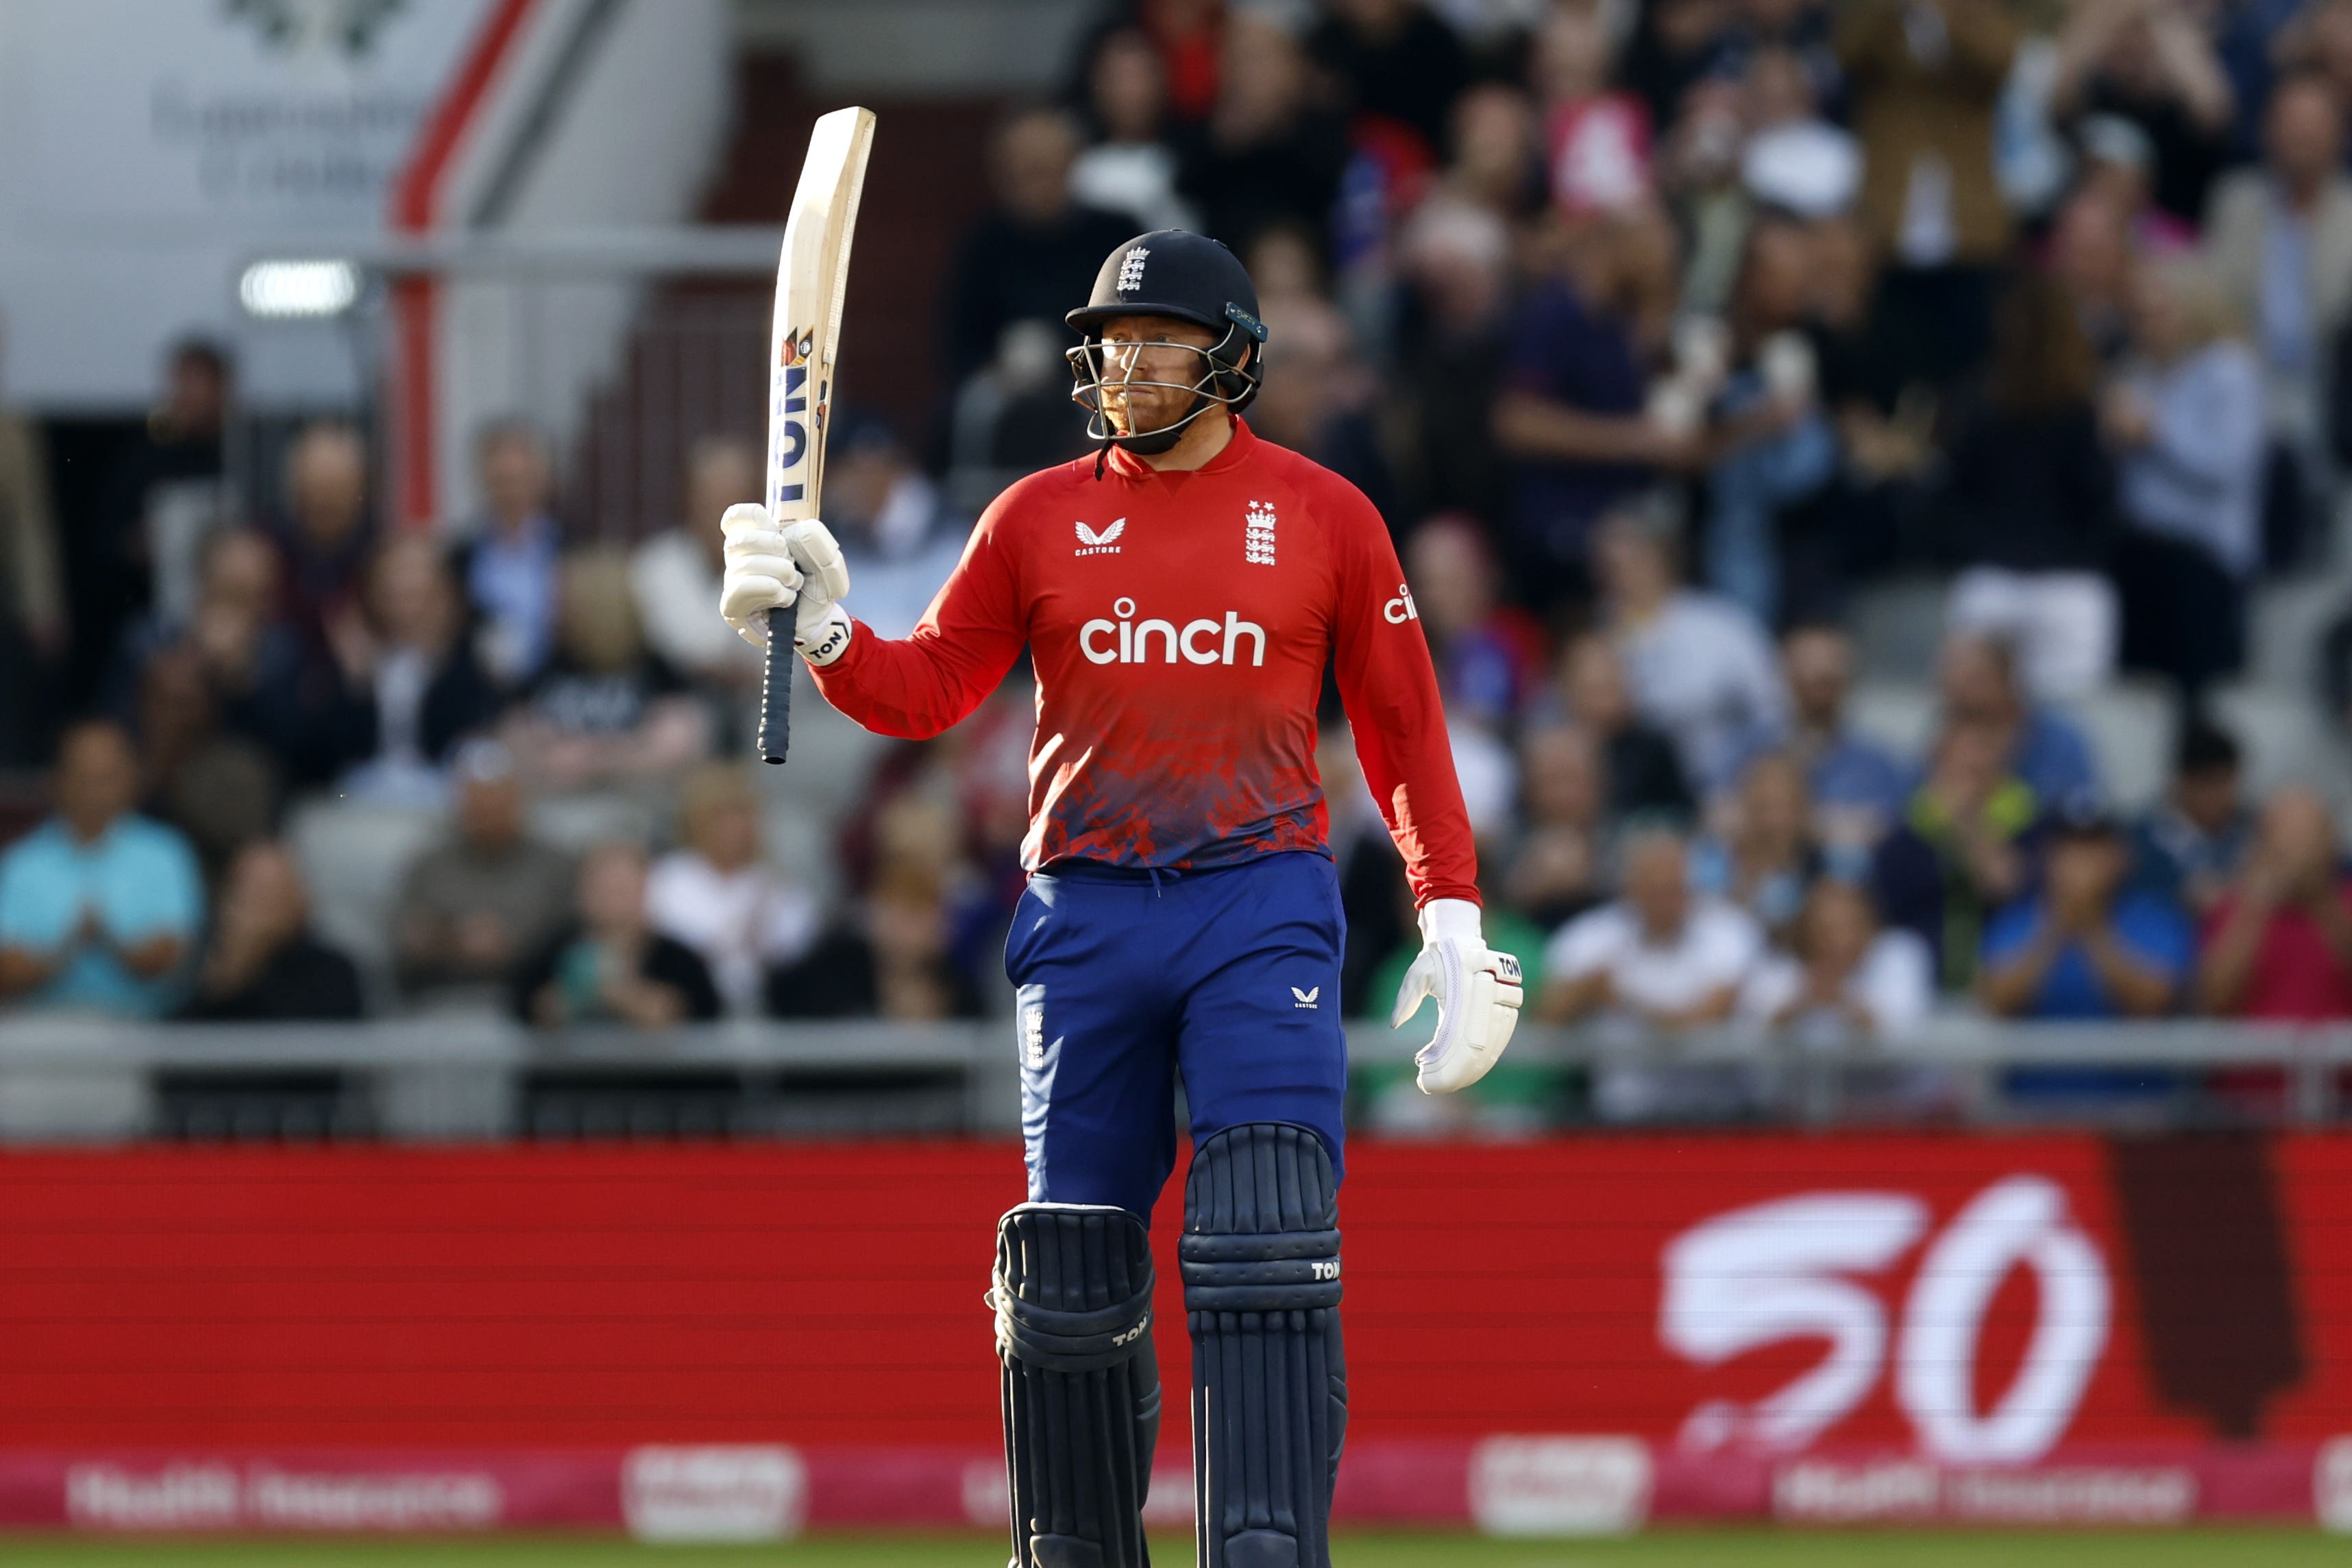
{"label": "grey metal barrier running between the crowd and red board", "polygon": [[[1409,1079],[1411,1044],[1385,1027],[1355,1025],[1350,1053],[1367,1079]],[[2352,1027],[1950,1018],[1844,1048],[1755,1030],[1529,1027],[1508,1063],[1576,1086],[1555,1124],[2317,1126],[2340,1114]],[[1623,1084],[1649,1093],[1646,1110],[1625,1114],[1628,1095],[1611,1098]],[[0,1025],[0,1143],[1011,1135],[1018,1100],[1002,1023]],[[1378,1114],[1369,1128],[1381,1131]]]}

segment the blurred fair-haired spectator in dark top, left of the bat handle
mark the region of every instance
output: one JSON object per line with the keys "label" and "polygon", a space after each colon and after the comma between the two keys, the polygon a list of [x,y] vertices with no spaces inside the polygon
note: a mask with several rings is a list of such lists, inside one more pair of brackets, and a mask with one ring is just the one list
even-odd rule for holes
{"label": "blurred fair-haired spectator in dark top, left of the bat handle", "polygon": [[659,780],[710,750],[710,715],[644,646],[628,557],[560,564],[555,656],[506,719],[506,743],[543,790]]}

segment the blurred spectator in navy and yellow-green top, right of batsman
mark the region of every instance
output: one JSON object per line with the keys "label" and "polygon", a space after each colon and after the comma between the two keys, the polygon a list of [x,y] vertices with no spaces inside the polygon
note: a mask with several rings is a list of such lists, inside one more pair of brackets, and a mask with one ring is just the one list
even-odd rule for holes
{"label": "blurred spectator in navy and yellow-green top, right of batsman", "polygon": [[1976,980],[1985,922],[2025,891],[2018,839],[2034,825],[2034,790],[2009,766],[2004,731],[1950,717],[1926,780],[1903,825],[1879,842],[1872,896],[1889,926],[1912,931],[1936,952],[1943,990]]}

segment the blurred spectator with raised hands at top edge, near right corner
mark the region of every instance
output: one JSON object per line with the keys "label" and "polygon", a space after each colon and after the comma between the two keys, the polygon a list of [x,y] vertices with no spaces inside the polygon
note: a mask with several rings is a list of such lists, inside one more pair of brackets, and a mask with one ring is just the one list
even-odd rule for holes
{"label": "blurred spectator with raised hands at top edge, near right corner", "polygon": [[2133,125],[2152,153],[2157,202],[2194,223],[2230,158],[2237,94],[2192,7],[2084,0],[2058,38],[2051,110]]}

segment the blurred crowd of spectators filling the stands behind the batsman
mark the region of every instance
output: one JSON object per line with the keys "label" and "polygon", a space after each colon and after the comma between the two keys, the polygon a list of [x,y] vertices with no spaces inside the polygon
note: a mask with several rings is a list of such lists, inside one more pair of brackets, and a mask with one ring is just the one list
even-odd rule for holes
{"label": "blurred crowd of spectators filling the stands behind the batsman", "polygon": [[[2352,0],[1105,5],[995,134],[938,430],[833,437],[849,604],[903,635],[988,496],[1084,449],[1061,313],[1131,233],[1197,226],[1261,289],[1254,428],[1397,534],[1536,1018],[2352,1018],[2331,799],[2256,799],[2209,703],[2263,578],[2331,555],[2347,94]],[[0,858],[9,1006],[1009,1006],[1023,691],[858,752],[823,811],[734,762],[757,663],[715,559],[750,447],[710,435],[684,522],[621,548],[494,423],[482,515],[383,534],[325,421],[268,505],[183,527],[233,395],[179,350],[89,538],[0,416],[0,741],[54,762]],[[1853,611],[1924,574],[1903,750],[1851,722]],[[2352,616],[2310,665],[2312,712],[2352,715]],[[2119,679],[2178,703],[2138,813],[2072,717]],[[1418,943],[1329,722],[1343,999],[1376,1013]],[[400,844],[376,952],[320,940],[306,882],[353,856],[301,811]]]}

